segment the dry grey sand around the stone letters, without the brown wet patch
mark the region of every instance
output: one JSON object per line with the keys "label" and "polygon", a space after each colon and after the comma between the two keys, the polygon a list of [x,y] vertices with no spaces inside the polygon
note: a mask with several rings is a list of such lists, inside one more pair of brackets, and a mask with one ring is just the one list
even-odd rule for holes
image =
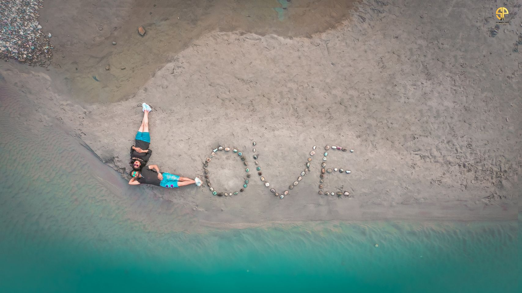
{"label": "dry grey sand around the stone letters, without the brown wet patch", "polygon": [[[515,218],[521,63],[511,43],[519,29],[491,38],[486,9],[444,1],[408,7],[363,1],[353,21],[312,39],[211,32],[131,100],[80,107],[52,92],[41,100],[60,103],[56,116],[122,172],[141,102],[154,108],[150,163],[183,176],[203,175],[202,162],[218,145],[245,150],[253,162],[256,141],[264,175],[284,190],[313,145],[316,156],[326,144],[355,150],[331,159],[349,166],[349,177],[326,182],[351,199],[319,196],[317,159],[283,200],[258,179],[231,198],[205,187],[151,189],[195,208],[202,221]],[[212,161],[212,182],[237,186],[245,179],[238,160]]]}

